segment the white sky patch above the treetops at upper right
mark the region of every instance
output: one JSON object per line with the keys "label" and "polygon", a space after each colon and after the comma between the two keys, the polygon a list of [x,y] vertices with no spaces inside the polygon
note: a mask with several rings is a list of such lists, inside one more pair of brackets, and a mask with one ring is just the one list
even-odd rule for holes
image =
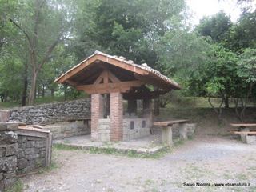
{"label": "white sky patch above the treetops at upper right", "polygon": [[[230,15],[232,22],[236,22],[241,14],[237,0],[186,0],[186,2],[192,14],[190,18],[192,25],[197,25],[203,16],[217,14],[220,10]],[[256,6],[256,0],[253,4]]]}

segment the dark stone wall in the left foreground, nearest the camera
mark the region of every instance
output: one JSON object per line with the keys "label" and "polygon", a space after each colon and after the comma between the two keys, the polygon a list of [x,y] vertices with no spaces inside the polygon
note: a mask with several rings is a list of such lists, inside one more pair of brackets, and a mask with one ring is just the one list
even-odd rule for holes
{"label": "dark stone wall in the left foreground, nearest the camera", "polygon": [[0,122],[0,191],[12,186],[18,174],[49,166],[51,143],[49,130],[19,129],[18,123]]}

